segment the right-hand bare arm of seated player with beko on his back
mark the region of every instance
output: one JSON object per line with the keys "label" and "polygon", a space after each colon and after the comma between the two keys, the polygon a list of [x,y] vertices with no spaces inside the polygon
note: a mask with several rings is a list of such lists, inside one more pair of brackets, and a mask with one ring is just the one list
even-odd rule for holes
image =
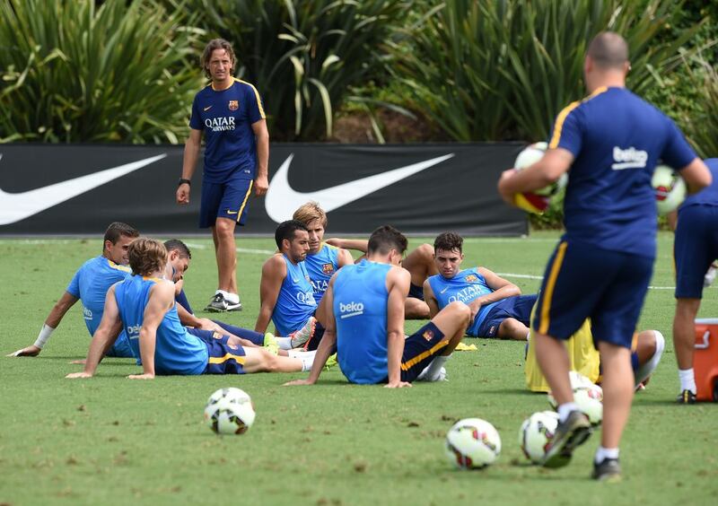
{"label": "right-hand bare arm of seated player with beko on his back", "polygon": [[[406,269],[391,267],[387,274],[387,388],[411,387],[401,380],[401,356],[404,353],[404,306],[411,275]],[[315,359],[316,360],[316,359]]]}

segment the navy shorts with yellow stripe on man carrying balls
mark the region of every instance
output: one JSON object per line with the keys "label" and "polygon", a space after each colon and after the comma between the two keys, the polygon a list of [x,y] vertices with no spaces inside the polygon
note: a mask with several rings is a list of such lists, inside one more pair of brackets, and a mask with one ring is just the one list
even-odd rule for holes
{"label": "navy shorts with yellow stripe on man carrying balls", "polygon": [[532,328],[568,339],[591,318],[593,341],[631,347],[653,258],[562,240],[548,260]]}

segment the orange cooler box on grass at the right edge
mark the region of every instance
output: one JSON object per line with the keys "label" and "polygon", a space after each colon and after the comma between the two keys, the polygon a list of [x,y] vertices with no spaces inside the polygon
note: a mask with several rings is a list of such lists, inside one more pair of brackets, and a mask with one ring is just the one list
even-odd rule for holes
{"label": "orange cooler box on grass at the right edge", "polygon": [[697,400],[718,402],[718,318],[696,319],[693,371]]}

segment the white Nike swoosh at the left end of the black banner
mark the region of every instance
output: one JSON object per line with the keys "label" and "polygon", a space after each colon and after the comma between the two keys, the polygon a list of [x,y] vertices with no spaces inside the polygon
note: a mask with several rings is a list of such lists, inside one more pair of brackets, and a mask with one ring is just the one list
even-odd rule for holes
{"label": "white Nike swoosh at the left end of the black banner", "polygon": [[[92,188],[100,187],[134,170],[142,169],[145,165],[162,160],[166,156],[167,154],[158,154],[144,160],[133,161],[112,169],[101,170],[79,178],[67,179],[54,185],[35,188],[22,193],[7,193],[0,189],[0,225],[9,225],[30,218],[34,214],[41,213],[54,205],[70,200],[74,196],[82,195]],[[0,155],[1,157],[2,155]]]}

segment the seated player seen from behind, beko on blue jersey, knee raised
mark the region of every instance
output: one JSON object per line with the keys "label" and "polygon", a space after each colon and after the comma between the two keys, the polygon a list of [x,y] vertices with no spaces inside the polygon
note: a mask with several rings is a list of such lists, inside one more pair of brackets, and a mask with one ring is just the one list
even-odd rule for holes
{"label": "seated player seen from behind, beko on blue jersey, knee raised", "polygon": [[411,275],[399,263],[406,249],[407,238],[399,231],[380,227],[369,239],[367,257],[332,276],[324,294],[327,327],[310,376],[287,385],[316,383],[335,346],[341,371],[352,383],[410,387],[425,369],[426,379],[438,379],[468,327],[470,310],[453,302],[405,338]]}

